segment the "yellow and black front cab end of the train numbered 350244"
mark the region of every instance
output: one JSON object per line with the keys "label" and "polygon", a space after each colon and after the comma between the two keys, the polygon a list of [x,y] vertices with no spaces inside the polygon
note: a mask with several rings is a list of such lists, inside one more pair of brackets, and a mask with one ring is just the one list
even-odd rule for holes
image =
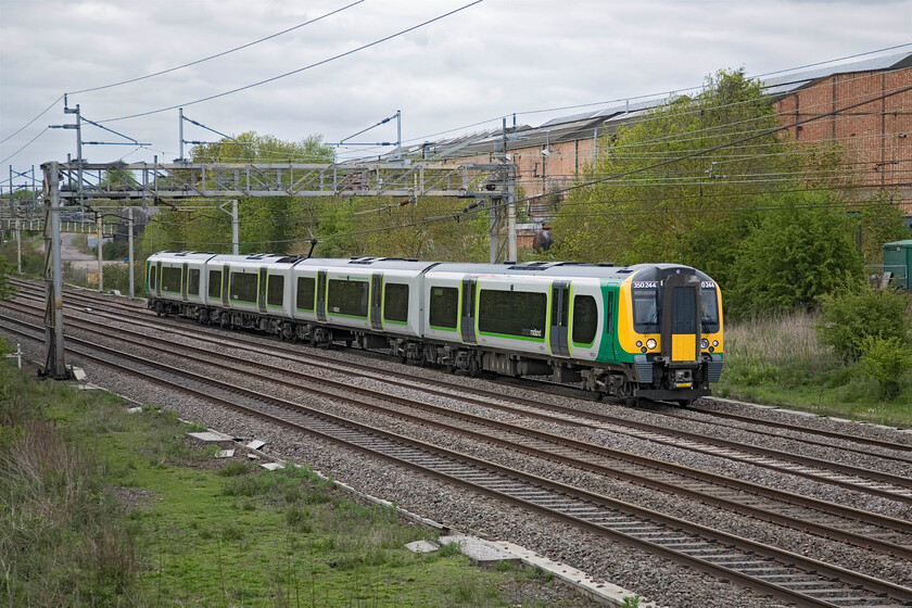
{"label": "yellow and black front cab end of the train numbered 350244", "polygon": [[658,266],[634,275],[621,291],[632,322],[619,341],[633,355],[634,396],[687,403],[709,395],[722,371],[714,281],[685,266]]}

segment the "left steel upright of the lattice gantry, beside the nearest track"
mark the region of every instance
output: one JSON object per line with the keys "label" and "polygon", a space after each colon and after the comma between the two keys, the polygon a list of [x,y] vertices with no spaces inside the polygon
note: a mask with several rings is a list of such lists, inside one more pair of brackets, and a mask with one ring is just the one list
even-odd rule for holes
{"label": "left steel upright of the lattice gantry, beside the nearest track", "polygon": [[56,162],[41,165],[45,170],[45,369],[41,375],[68,380],[63,357],[63,275],[60,254],[60,172]]}

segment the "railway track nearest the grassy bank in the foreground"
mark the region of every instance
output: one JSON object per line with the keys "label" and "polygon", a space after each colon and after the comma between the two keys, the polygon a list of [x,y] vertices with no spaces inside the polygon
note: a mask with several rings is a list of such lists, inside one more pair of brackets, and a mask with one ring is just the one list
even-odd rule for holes
{"label": "railway track nearest the grassy bank in the foreground", "polygon": [[[11,331],[37,340],[43,333],[37,326]],[[151,362],[75,337],[69,337],[67,344],[79,356],[121,372],[137,375],[172,390],[547,515],[798,606],[886,608],[912,601],[912,590],[887,581],[303,407],[211,376]]]}

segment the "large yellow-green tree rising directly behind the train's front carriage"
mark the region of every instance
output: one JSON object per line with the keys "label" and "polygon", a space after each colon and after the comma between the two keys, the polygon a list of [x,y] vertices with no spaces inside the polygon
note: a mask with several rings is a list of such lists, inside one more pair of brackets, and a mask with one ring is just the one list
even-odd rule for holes
{"label": "large yellow-green tree rising directly behind the train's front carriage", "polygon": [[788,150],[771,132],[777,126],[759,84],[738,71],[721,72],[698,96],[606,134],[604,155],[580,180],[598,182],[570,193],[552,223],[557,245],[549,253],[691,264],[724,282],[731,243],[747,235],[758,195],[770,191],[765,176],[787,173]]}

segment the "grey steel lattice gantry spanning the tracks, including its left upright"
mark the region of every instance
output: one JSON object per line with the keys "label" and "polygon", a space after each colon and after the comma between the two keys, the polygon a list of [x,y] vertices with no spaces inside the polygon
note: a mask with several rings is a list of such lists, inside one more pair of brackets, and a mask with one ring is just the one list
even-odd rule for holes
{"label": "grey steel lattice gantry spanning the tracks, including its left upright", "polygon": [[491,262],[516,261],[516,165],[481,163],[58,163],[45,174],[47,282],[45,375],[67,378],[63,358],[60,212],[94,199],[143,201],[242,197],[452,197],[489,212]]}

